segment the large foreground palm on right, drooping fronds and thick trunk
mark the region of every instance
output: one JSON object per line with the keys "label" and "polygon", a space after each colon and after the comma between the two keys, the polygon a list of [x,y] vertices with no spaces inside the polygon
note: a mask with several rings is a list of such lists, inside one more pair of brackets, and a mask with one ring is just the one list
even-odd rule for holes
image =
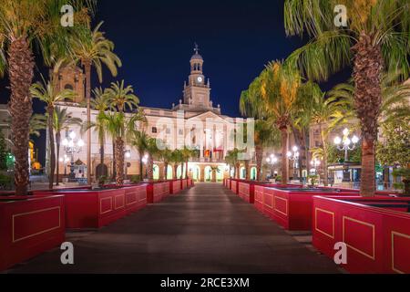
{"label": "large foreground palm on right, drooping fronds and thick trunk", "polygon": [[384,68],[409,73],[410,7],[407,0],[346,2],[347,27],[334,25],[337,0],[287,0],[284,5],[286,34],[307,32],[312,40],[294,51],[287,62],[309,79],[324,80],[348,64],[353,65],[354,106],[362,134],[361,194],[375,192],[375,151],[378,117],[382,104]]}

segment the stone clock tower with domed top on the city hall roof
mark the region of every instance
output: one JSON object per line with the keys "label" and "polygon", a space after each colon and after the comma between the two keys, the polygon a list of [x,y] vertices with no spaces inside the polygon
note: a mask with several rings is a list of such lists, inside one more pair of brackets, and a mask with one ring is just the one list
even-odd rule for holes
{"label": "stone clock tower with domed top on the city hall roof", "polygon": [[203,75],[203,58],[199,54],[198,45],[195,44],[195,54],[190,58],[190,77],[188,85],[184,85],[184,104],[189,105],[190,110],[205,110],[212,108],[210,101],[210,80],[205,81]]}

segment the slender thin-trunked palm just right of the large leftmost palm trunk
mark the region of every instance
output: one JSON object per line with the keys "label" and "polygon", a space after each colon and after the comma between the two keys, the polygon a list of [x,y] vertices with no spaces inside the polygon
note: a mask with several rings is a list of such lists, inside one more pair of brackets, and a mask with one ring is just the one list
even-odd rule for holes
{"label": "slender thin-trunked palm just right of the large leftmost palm trunk", "polygon": [[48,178],[48,187],[53,189],[54,174],[56,171],[56,146],[54,141],[54,126],[55,123],[55,109],[56,102],[63,100],[72,100],[76,97],[76,93],[71,89],[63,89],[57,91],[53,86],[52,81],[46,82],[43,79],[42,83],[35,83],[30,88],[30,94],[33,98],[40,99],[46,103],[46,114],[47,114],[47,128],[48,128],[48,141],[50,148],[50,173]]}

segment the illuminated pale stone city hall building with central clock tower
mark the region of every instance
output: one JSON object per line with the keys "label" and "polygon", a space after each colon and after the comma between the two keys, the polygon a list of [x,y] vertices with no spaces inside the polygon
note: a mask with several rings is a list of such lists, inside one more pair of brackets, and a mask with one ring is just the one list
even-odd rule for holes
{"label": "illuminated pale stone city hall building with central clock tower", "polygon": [[[188,82],[185,81],[183,96],[178,102],[172,104],[171,109],[157,109],[140,107],[145,113],[146,122],[139,122],[138,130],[145,130],[150,137],[165,141],[170,150],[182,149],[184,145],[197,151],[197,155],[189,162],[189,176],[200,182],[221,181],[229,176],[229,167],[225,164],[224,158],[227,151],[235,148],[235,128],[247,122],[241,118],[231,118],[222,114],[219,104],[214,104],[210,99],[210,79],[206,78],[203,72],[203,58],[195,49],[195,54],[190,58],[190,76]],[[85,99],[85,75],[80,68],[62,68],[59,72],[57,89],[73,89],[77,92],[74,101],[60,102],[59,107],[67,108],[67,112],[72,117],[87,120],[87,108],[82,103]],[[177,101],[177,100],[176,100]],[[127,113],[131,115],[132,113]],[[97,118],[97,110],[91,110],[91,120]],[[72,126],[62,133],[69,138],[70,132],[76,133],[73,142],[82,139],[84,145],[77,147],[74,153],[67,153],[65,147],[60,147],[60,167],[59,173],[69,173],[71,155],[75,160],[77,177],[87,177],[87,134],[81,137],[80,128]],[[139,174],[138,152],[127,145],[126,155],[127,170],[129,175]],[[105,165],[108,174],[112,173],[112,142],[108,137],[105,143]],[[66,156],[65,156],[66,155]],[[250,151],[250,175],[256,177],[256,167],[253,161],[254,152]],[[97,132],[92,131],[91,139],[91,175],[96,176],[97,165],[100,162],[100,145],[97,139]],[[164,172],[163,162],[156,161],[154,164],[154,179],[162,178]],[[173,167],[168,166],[168,178],[173,177]],[[177,176],[181,172],[180,165],[177,169]],[[185,170],[184,170],[185,172]],[[244,166],[241,166],[241,176],[245,175]],[[145,173],[145,166],[143,175]]]}

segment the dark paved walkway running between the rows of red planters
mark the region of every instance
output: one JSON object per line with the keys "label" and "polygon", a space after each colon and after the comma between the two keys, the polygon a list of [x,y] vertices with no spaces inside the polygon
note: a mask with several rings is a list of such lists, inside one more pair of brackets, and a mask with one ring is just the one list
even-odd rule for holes
{"label": "dark paved walkway running between the rows of red planters", "polygon": [[217,183],[149,205],[98,231],[69,233],[75,265],[54,249],[10,273],[338,273]]}

